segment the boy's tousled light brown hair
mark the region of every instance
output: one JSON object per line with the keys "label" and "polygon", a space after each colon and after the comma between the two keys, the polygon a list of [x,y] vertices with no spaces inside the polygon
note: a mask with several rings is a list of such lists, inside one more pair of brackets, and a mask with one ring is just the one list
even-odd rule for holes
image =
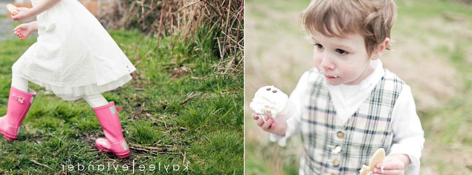
{"label": "boy's tousled light brown hair", "polygon": [[363,35],[369,56],[385,38],[390,38],[395,19],[393,0],[312,0],[300,16],[303,27],[311,34],[317,31],[325,36]]}

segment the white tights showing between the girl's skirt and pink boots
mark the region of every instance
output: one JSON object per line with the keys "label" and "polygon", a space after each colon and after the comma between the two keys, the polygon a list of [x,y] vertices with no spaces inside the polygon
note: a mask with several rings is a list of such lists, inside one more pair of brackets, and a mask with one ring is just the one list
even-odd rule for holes
{"label": "white tights showing between the girl's skirt and pink boots", "polygon": [[[15,73],[12,73],[11,86],[17,88],[20,91],[28,92],[28,80],[21,78]],[[92,108],[101,107],[108,104],[108,100],[103,97],[103,95],[93,94],[93,95],[84,95],[82,98],[89,104]]]}

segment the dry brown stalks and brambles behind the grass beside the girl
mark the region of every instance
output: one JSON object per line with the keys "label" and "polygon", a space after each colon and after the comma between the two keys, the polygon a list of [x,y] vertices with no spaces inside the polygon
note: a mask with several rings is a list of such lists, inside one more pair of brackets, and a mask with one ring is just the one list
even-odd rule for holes
{"label": "dry brown stalks and brambles behind the grass beside the girl", "polygon": [[206,28],[205,37],[216,33],[215,54],[221,60],[231,58],[235,67],[243,62],[243,16],[243,0],[118,0],[99,18],[113,29],[136,28],[158,38],[179,33],[187,42]]}

